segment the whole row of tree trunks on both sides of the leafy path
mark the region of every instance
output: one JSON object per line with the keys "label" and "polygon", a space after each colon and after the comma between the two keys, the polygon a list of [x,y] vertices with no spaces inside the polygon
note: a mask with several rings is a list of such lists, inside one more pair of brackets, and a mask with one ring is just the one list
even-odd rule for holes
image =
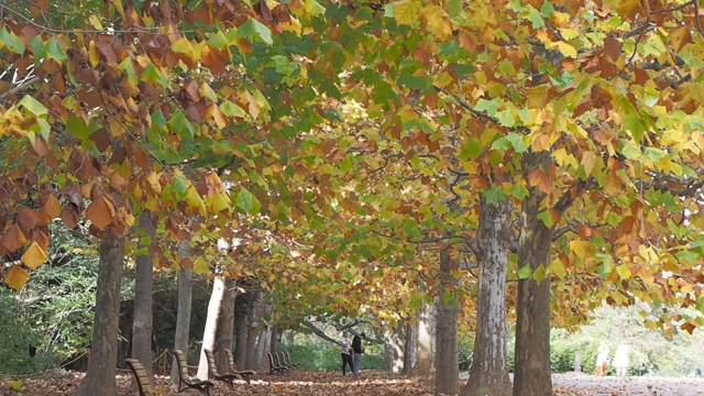
{"label": "whole row of tree trunks on both sides of the leafy path", "polygon": [[[552,231],[538,219],[540,200],[529,196],[521,206],[518,258],[536,270],[547,265]],[[537,282],[519,280],[519,305],[516,341],[516,372],[514,386],[508,378],[506,362],[506,307],[505,287],[510,240],[510,200],[488,204],[482,201],[480,212],[480,254],[477,296],[477,322],[472,371],[463,395],[539,395],[551,394],[549,361],[550,285],[549,278]],[[154,228],[150,213],[144,212],[140,226],[148,240]],[[146,248],[146,246],[141,246]],[[117,396],[114,382],[117,361],[118,318],[120,305],[121,267],[124,260],[124,240],[108,231],[99,245],[100,270],[96,300],[96,319],[91,350],[94,351],[85,381],[75,395],[103,394]],[[182,254],[188,255],[184,244]],[[440,297],[435,307],[425,308],[419,318],[400,323],[395,332],[387,333],[387,369],[404,375],[436,375],[436,392],[459,393],[458,366],[458,314],[455,293],[458,279],[451,274],[459,268],[459,254],[449,245],[440,253]],[[136,258],[135,312],[133,323],[133,356],[151,369],[152,342],[152,278],[151,258]],[[250,294],[249,309],[234,328],[235,285],[231,279],[216,278],[208,305],[208,319],[202,349],[216,352],[232,344],[237,333],[235,363],[240,369],[262,370],[266,351],[276,348],[272,323],[260,327],[260,316],[271,318],[271,304],[261,293]],[[191,312],[193,274],[182,270],[178,279],[178,314],[174,348],[188,352],[188,334]],[[221,309],[221,307],[224,307]],[[220,315],[222,310],[223,315]],[[437,311],[436,311],[437,310]],[[433,311],[435,315],[433,315]],[[245,317],[245,318],[244,318]],[[432,318],[436,320],[431,320]],[[218,324],[220,322],[220,326]],[[220,333],[216,343],[217,329]],[[432,333],[435,331],[435,338]],[[405,341],[398,336],[405,333]],[[432,342],[435,340],[435,343]],[[403,345],[403,346],[402,346]],[[201,349],[198,370],[200,378],[207,378],[207,363]],[[222,353],[218,353],[222,355]],[[399,359],[403,356],[403,363]],[[435,358],[435,359],[433,359]],[[224,370],[222,361],[219,362]],[[172,367],[175,367],[173,364]],[[435,372],[433,372],[433,369]],[[172,369],[172,378],[177,373]]]}

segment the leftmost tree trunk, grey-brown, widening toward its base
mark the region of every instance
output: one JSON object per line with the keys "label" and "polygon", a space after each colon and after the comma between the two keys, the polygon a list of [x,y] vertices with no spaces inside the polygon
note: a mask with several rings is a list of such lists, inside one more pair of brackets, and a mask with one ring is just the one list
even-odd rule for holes
{"label": "leftmost tree trunk, grey-brown, widening toward its base", "polygon": [[117,396],[118,329],[120,318],[120,283],[124,261],[124,239],[108,231],[98,246],[100,267],[96,292],[96,315],[88,372],[75,396]]}

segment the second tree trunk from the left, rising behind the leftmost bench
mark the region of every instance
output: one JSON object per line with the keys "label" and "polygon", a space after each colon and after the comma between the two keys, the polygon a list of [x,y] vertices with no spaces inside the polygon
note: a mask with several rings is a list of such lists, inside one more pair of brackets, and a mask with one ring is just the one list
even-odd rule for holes
{"label": "second tree trunk from the left, rising behind the leftmost bench", "polygon": [[[145,251],[154,243],[154,223],[151,212],[145,210],[140,215],[140,250]],[[143,239],[147,239],[143,240]],[[154,267],[152,257],[143,252],[136,260],[136,274],[134,282],[134,318],[132,321],[132,358],[144,365],[150,377],[154,375],[152,369],[152,283]],[[138,383],[132,376],[132,387],[136,389]]]}

